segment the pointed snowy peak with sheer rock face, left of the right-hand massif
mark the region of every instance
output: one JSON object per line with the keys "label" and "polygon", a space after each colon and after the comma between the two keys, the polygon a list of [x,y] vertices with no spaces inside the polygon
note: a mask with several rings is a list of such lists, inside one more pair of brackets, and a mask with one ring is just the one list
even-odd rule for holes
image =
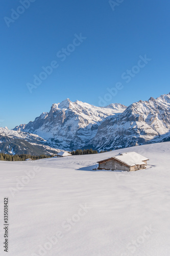
{"label": "pointed snowy peak with sheer rock face, left of the right-hand massif", "polygon": [[21,124],[14,130],[37,134],[54,147],[72,150],[88,145],[107,117],[116,116],[126,108],[118,103],[100,108],[66,99],[53,104],[49,113],[42,113],[33,122]]}

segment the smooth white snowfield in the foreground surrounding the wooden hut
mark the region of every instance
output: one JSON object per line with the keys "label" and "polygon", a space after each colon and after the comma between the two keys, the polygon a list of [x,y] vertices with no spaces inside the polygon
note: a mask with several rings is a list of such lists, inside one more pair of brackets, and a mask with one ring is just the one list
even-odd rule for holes
{"label": "smooth white snowfield in the foreground surrounding the wooden hut", "polygon": [[[150,159],[147,169],[92,170],[97,161],[132,151]],[[9,197],[9,256],[169,256],[169,154],[165,142],[96,155],[0,161],[0,254],[6,255],[3,198]],[[16,189],[13,196],[9,188]],[[56,234],[58,242],[49,244]],[[39,251],[40,245],[48,250]]]}

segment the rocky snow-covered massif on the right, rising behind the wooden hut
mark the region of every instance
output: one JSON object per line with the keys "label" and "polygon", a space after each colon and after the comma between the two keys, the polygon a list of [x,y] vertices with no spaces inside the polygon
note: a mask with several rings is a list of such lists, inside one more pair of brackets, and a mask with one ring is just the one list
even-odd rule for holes
{"label": "rocky snow-covered massif on the right, rising behind the wooden hut", "polygon": [[122,114],[105,120],[91,144],[98,150],[168,141],[170,94],[131,104]]}

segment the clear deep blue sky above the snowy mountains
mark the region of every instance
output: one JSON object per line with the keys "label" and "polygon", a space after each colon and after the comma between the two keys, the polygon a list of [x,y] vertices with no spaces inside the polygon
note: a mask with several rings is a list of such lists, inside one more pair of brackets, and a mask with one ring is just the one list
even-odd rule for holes
{"label": "clear deep blue sky above the snowy mountains", "polygon": [[[19,1],[1,1],[0,126],[34,120],[65,98],[99,105],[99,97],[117,82],[124,88],[108,96],[106,105],[169,93],[169,0],[125,0],[114,11],[107,0],[36,0],[28,9],[18,6]],[[23,13],[16,18],[11,9]],[[66,58],[57,57],[80,33],[86,39],[75,50],[69,46]],[[135,67],[137,74],[131,73],[127,83],[122,74],[145,54],[152,60]],[[53,60],[58,68],[30,93],[26,84]]]}

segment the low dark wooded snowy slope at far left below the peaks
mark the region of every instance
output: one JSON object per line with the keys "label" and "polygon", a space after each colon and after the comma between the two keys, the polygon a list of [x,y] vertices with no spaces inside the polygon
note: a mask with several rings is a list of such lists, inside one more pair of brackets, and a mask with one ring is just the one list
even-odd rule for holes
{"label": "low dark wooded snowy slope at far left below the peaks", "polygon": [[48,146],[38,135],[0,127],[0,152],[17,155],[52,155],[60,150]]}

